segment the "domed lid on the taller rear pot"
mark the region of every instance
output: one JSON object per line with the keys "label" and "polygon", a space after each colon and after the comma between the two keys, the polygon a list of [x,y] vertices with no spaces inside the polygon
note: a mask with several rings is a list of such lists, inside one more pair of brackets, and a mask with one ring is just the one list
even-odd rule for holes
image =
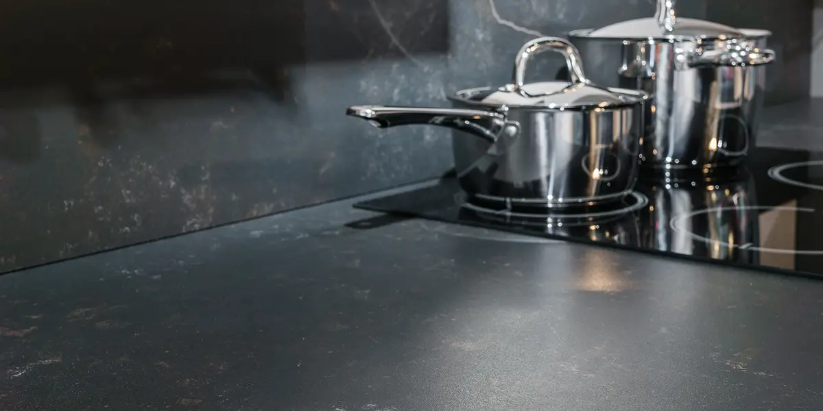
{"label": "domed lid on the taller rear pot", "polygon": [[677,18],[676,0],[658,0],[654,17],[621,21],[588,32],[587,37],[634,39],[672,38],[739,38],[746,34],[739,29],[711,21]]}

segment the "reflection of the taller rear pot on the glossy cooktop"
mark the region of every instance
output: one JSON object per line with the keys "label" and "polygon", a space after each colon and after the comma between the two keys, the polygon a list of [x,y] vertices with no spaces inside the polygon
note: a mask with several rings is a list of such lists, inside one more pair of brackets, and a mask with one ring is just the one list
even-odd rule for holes
{"label": "reflection of the taller rear pot on the glossy cooktop", "polygon": [[649,197],[639,211],[644,248],[756,264],[758,210],[746,169],[669,182],[640,180]]}

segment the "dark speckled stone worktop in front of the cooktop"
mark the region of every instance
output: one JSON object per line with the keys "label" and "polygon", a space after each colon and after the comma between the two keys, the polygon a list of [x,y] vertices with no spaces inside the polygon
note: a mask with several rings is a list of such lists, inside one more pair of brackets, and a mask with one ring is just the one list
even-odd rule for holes
{"label": "dark speckled stone worktop in front of the cooktop", "polygon": [[0,409],[821,409],[823,282],[338,201],[0,276]]}

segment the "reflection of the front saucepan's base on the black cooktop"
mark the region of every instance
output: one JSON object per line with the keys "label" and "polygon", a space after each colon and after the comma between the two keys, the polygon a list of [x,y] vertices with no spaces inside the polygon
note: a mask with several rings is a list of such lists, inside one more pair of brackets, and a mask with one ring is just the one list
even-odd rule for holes
{"label": "reflection of the front saucepan's base on the black cooktop", "polygon": [[485,203],[477,198],[458,201],[463,204],[461,219],[518,227],[534,234],[639,247],[636,211],[644,208],[648,200],[639,192],[632,192],[620,203],[581,205],[561,211],[537,207],[502,209],[495,202]]}

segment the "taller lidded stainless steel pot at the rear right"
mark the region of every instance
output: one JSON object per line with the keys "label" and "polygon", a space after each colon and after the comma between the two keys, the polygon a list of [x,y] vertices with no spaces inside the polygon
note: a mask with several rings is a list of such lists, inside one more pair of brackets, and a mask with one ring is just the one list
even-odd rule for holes
{"label": "taller lidded stainless steel pot at the rear right", "polygon": [[570,32],[602,85],[647,91],[644,165],[660,169],[737,164],[754,146],[765,88],[766,30],[679,19],[674,0],[654,18]]}

